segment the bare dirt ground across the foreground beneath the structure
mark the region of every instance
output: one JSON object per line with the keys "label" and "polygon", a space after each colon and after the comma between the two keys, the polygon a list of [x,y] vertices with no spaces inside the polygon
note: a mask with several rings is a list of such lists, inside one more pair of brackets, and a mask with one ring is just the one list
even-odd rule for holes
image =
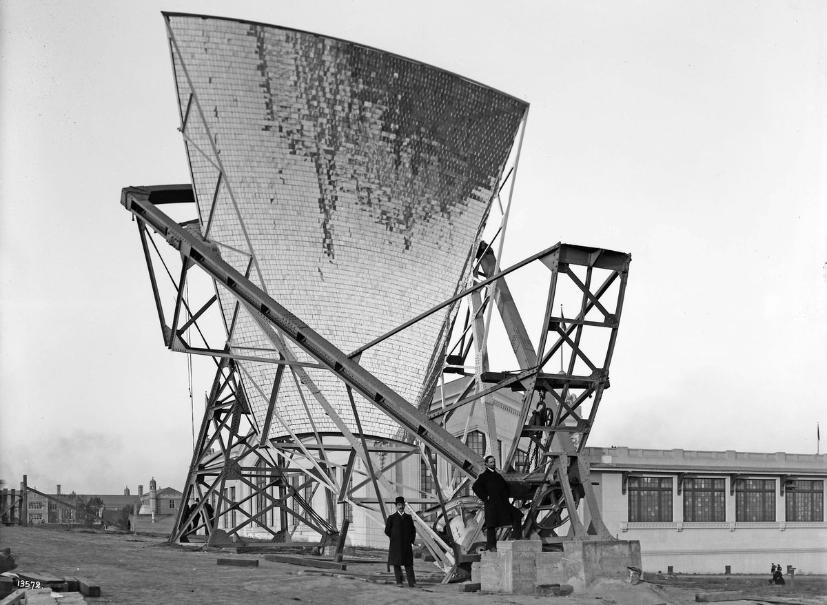
{"label": "bare dirt ground across the foreground beneath the structure", "polygon": [[[549,597],[460,593],[458,584],[439,584],[433,564],[416,561],[418,588],[398,588],[380,563],[355,563],[346,572],[272,563],[262,555],[235,555],[165,545],[160,536],[43,527],[0,527],[0,548],[11,548],[19,572],[81,575],[101,586],[90,603],[342,603],[342,605],[464,605],[540,603]],[[357,556],[364,553],[357,553]],[[372,559],[382,554],[375,552]],[[219,558],[258,559],[258,567],[217,565]],[[349,562],[351,561],[351,562]],[[566,605],[688,605],[706,591],[743,590],[772,603],[827,605],[827,579],[801,576],[775,587],[754,576],[647,578],[631,586],[605,580],[580,593],[552,598]],[[729,602],[735,603],[753,602]]]}

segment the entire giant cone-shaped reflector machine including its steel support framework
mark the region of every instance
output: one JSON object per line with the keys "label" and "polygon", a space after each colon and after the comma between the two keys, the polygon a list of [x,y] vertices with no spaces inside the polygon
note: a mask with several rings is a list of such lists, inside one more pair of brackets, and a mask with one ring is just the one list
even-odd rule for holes
{"label": "entire giant cone-shaped reflector machine including its steel support framework", "polygon": [[[580,453],[609,388],[631,257],[557,243],[500,267],[500,191],[528,104],[327,36],[165,21],[191,184],[124,188],[121,201],[165,345],[218,366],[184,486],[192,506],[170,541],[302,526],[342,545],[346,506],[366,544],[374,530],[384,541],[385,503],[404,494],[448,579],[479,544],[468,484],[486,453],[508,471],[523,535],[611,539]],[[161,210],[179,202],[197,217]],[[496,246],[481,241],[486,221]],[[506,283],[528,265],[533,322]],[[204,303],[190,296],[194,267]],[[207,337],[199,322],[217,311],[222,334]],[[496,369],[495,315],[498,353],[514,355]]]}

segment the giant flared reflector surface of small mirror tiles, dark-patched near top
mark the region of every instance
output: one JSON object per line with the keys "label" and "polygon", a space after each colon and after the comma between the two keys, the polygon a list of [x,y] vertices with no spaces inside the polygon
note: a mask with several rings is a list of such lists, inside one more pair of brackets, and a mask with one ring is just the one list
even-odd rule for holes
{"label": "giant flared reflector surface of small mirror tiles, dark-patched near top", "polygon": [[[343,40],[167,21],[201,230],[224,260],[346,352],[461,289],[527,103]],[[218,294],[232,351],[271,348],[232,295]],[[428,405],[452,309],[370,347],[362,367]],[[265,422],[276,368],[239,363]],[[342,383],[308,374],[356,431]],[[304,400],[319,431],[337,430]],[[296,433],[311,428],[305,403],[296,383],[282,384],[278,412]],[[364,433],[400,436],[375,407],[357,407]],[[283,435],[271,422],[270,436]]]}

